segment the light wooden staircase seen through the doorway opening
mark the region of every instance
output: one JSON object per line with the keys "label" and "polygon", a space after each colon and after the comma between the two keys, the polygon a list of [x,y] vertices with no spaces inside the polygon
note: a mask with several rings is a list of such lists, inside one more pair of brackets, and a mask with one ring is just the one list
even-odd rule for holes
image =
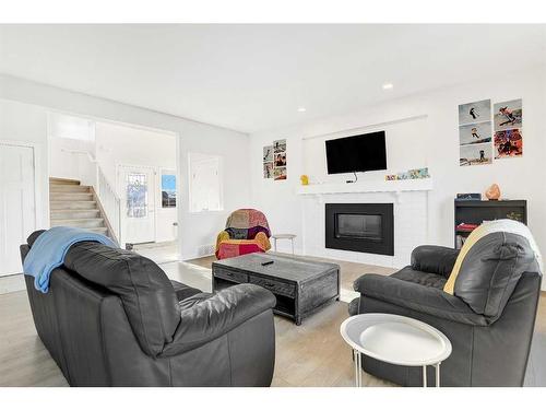
{"label": "light wooden staircase seen through the doorway opening", "polygon": [[75,226],[116,239],[92,187],[75,179],[49,178],[51,226]]}

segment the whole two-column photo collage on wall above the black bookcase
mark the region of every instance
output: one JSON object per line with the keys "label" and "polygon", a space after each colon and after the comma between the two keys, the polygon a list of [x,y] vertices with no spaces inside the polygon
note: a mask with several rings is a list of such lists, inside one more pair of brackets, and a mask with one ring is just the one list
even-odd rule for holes
{"label": "whole two-column photo collage on wall above the black bookcase", "polygon": [[[523,154],[522,101],[483,99],[459,106],[459,164],[485,165]],[[491,143],[491,141],[494,143]]]}

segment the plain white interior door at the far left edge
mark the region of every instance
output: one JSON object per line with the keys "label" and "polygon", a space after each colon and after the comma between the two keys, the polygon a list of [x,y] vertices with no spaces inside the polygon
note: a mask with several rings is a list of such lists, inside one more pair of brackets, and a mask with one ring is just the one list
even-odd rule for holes
{"label": "plain white interior door at the far left edge", "polygon": [[19,246],[35,229],[34,149],[0,142],[0,276],[23,271]]}

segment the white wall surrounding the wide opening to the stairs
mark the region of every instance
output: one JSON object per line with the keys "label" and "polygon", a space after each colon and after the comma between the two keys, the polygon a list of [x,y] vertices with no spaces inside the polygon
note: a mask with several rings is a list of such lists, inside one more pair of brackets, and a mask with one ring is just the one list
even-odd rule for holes
{"label": "white wall surrounding the wide opening to the stairs", "polygon": [[[10,139],[11,136],[11,139],[35,141],[44,148],[47,143],[47,112],[50,109],[176,132],[179,136],[178,220],[182,259],[195,257],[201,245],[214,244],[227,214],[234,209],[248,207],[249,139],[245,133],[9,75],[0,75],[0,139]],[[185,184],[188,179],[188,152],[215,154],[225,159],[224,211],[199,214],[188,212],[188,185]],[[41,221],[38,224],[47,226],[47,153],[40,155],[43,176],[39,189],[45,195],[40,196],[38,213]]]}

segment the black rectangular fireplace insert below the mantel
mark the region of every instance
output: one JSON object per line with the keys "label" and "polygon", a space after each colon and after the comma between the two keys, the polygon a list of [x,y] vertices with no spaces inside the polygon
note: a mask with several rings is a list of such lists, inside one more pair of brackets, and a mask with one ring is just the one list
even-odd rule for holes
{"label": "black rectangular fireplace insert below the mantel", "polygon": [[392,203],[327,203],[327,248],[394,255]]}

